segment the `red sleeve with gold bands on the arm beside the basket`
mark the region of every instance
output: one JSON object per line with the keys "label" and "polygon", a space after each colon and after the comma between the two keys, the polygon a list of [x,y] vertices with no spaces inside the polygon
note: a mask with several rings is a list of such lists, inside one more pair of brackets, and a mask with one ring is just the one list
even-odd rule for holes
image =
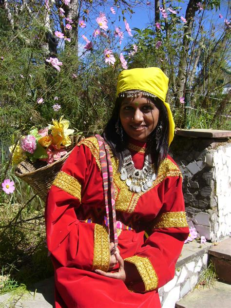
{"label": "red sleeve with gold bands on the arm beside the basket", "polygon": [[95,223],[79,221],[76,214],[82,206],[82,196],[91,190],[91,177],[98,174],[101,173],[95,157],[81,144],[74,148],[51,186],[45,221],[47,247],[57,266],[108,270],[107,230]]}

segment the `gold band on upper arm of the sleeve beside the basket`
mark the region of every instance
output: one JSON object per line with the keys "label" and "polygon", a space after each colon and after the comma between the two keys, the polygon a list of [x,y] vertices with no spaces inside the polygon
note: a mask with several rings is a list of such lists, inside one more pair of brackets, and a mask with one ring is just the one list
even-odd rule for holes
{"label": "gold band on upper arm of the sleeve beside the basket", "polygon": [[81,184],[75,177],[60,171],[52,185],[57,186],[66,193],[70,193],[72,196],[78,198],[79,202],[81,202]]}

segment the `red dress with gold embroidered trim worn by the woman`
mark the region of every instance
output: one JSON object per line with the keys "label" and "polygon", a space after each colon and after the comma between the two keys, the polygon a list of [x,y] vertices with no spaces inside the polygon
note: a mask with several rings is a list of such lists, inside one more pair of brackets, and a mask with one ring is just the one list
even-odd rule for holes
{"label": "red dress with gold embroidered trim worn by the woman", "polygon": [[[145,144],[132,141],[136,169],[142,169]],[[159,308],[158,288],[174,276],[188,225],[182,176],[168,156],[149,191],[132,193],[111,157],[116,195],[118,248],[135,264],[140,282],[101,276],[108,270],[109,239],[104,224],[103,181],[96,137],[80,142],[58,173],[45,211],[47,246],[55,269],[56,308]],[[141,285],[145,292],[141,292]]]}

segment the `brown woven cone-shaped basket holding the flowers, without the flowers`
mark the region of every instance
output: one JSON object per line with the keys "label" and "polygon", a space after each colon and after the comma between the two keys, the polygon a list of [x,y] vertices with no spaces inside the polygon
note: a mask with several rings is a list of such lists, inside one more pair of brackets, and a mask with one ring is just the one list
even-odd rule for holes
{"label": "brown woven cone-shaped basket holding the flowers, without the flowers", "polygon": [[[47,192],[56,175],[67,157],[71,154],[75,145],[83,138],[84,137],[80,135],[77,137],[71,136],[72,145],[67,148],[68,153],[50,165],[44,166],[45,162],[42,161],[32,163],[30,160],[23,160],[18,164],[15,174],[28,183],[43,201],[46,201]],[[43,166],[41,167],[41,165]]]}

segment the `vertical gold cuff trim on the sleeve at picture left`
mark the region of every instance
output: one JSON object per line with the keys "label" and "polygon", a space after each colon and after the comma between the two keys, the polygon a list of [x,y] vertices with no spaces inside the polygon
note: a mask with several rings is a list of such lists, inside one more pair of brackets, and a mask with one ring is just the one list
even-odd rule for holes
{"label": "vertical gold cuff trim on the sleeve at picture left", "polygon": [[109,236],[105,226],[96,224],[94,228],[93,270],[108,271],[110,262]]}

